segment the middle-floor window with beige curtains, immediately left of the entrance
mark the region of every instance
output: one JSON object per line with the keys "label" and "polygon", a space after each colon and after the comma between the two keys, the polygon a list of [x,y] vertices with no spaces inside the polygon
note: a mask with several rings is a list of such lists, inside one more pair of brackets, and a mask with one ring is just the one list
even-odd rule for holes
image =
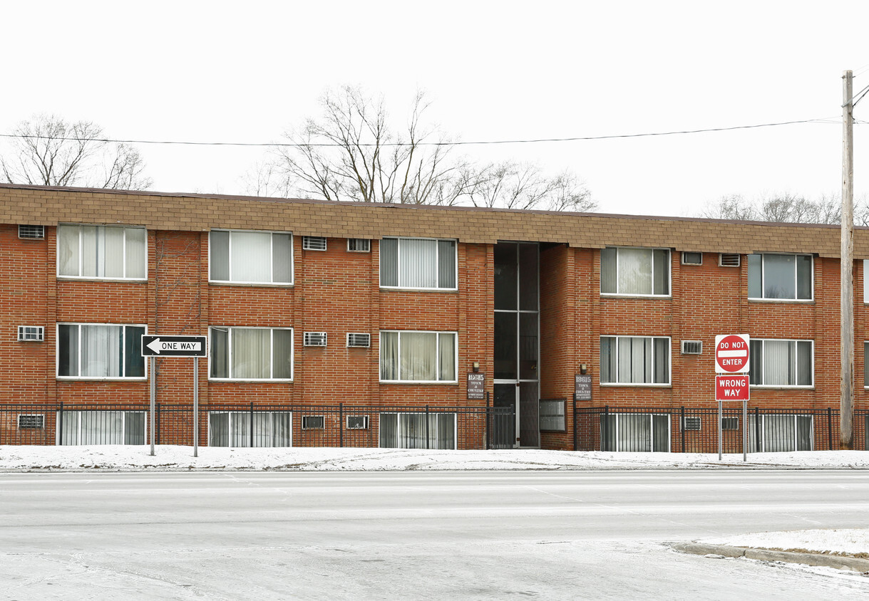
{"label": "middle-floor window with beige curtains, immediately left of the entrance", "polygon": [[455,382],[455,332],[381,330],[381,382]]}

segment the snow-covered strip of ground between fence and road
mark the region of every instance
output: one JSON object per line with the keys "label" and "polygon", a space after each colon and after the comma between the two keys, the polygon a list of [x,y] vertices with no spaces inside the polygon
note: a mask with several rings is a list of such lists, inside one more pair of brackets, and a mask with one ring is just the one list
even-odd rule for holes
{"label": "snow-covered strip of ground between fence and road", "polygon": [[813,451],[742,455],[541,450],[427,451],[335,447],[0,446],[0,471],[21,470],[583,470],[583,469],[866,468],[869,452]]}

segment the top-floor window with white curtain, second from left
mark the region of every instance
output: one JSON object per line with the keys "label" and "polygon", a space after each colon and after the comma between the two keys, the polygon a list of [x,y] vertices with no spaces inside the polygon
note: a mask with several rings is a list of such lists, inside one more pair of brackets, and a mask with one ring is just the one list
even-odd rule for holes
{"label": "top-floor window with white curtain, second from left", "polygon": [[212,229],[209,281],[292,284],[293,234]]}

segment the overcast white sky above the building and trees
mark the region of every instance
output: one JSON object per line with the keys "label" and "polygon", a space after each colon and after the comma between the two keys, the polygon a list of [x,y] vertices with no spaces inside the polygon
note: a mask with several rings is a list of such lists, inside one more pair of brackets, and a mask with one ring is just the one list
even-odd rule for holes
{"label": "overcast white sky above the building and trees", "polygon": [[[35,113],[120,139],[273,142],[324,89],[403,117],[416,89],[481,162],[570,168],[600,210],[696,215],[721,195],[838,193],[842,72],[869,85],[869,2],[19,2],[3,0],[0,133]],[[855,110],[869,121],[869,100]],[[869,191],[855,128],[855,195]],[[167,192],[242,193],[262,149],[139,147]]]}

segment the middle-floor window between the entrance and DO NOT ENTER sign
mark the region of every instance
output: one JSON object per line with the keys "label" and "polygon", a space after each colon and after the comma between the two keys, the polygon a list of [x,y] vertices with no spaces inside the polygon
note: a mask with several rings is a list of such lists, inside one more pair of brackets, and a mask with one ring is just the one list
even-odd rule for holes
{"label": "middle-floor window between the entrance and DO NOT ENTER sign", "polygon": [[601,384],[669,384],[670,339],[600,337]]}

